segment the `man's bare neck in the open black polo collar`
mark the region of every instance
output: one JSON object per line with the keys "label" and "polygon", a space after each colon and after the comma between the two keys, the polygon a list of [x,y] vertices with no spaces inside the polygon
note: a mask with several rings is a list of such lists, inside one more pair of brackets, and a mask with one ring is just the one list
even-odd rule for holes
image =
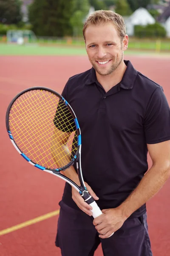
{"label": "man's bare neck in the open black polo collar", "polygon": [[125,65],[125,62],[122,61],[121,64],[114,70],[111,74],[106,76],[101,76],[99,73],[96,72],[96,78],[97,81],[102,85],[102,87],[105,89],[106,93],[108,90],[110,90],[113,86],[118,84],[125,73],[127,66]]}

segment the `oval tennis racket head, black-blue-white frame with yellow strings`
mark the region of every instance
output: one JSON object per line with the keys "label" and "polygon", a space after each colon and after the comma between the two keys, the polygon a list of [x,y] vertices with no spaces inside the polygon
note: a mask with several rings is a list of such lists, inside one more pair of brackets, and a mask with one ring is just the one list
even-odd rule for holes
{"label": "oval tennis racket head, black-blue-white frame with yellow strings", "polygon": [[[14,97],[6,111],[6,129],[17,151],[39,169],[64,171],[79,155],[81,132],[77,117],[68,102],[47,87],[31,87]],[[60,163],[51,153],[54,130],[59,136],[70,134],[67,145],[71,156],[65,159],[65,151],[55,144],[63,158]]]}

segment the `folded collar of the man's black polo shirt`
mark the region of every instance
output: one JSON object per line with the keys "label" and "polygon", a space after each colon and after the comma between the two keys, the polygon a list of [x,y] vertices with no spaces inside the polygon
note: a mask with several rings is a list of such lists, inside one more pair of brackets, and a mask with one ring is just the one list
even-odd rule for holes
{"label": "folded collar of the man's black polo shirt", "polygon": [[[133,85],[135,83],[137,71],[136,69],[134,69],[130,61],[124,60],[124,62],[127,66],[127,69],[125,70],[122,81],[120,81],[119,83],[119,87],[125,90],[130,90],[133,88]],[[96,82],[96,71],[92,67],[88,75],[88,78],[85,81],[85,84],[93,84],[95,82]]]}

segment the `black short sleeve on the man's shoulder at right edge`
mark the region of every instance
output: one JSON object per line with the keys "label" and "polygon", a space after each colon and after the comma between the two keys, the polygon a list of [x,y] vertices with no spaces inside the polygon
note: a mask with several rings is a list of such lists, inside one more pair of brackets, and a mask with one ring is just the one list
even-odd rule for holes
{"label": "black short sleeve on the man's shoulder at right edge", "polygon": [[150,97],[144,118],[147,144],[170,140],[170,107],[162,87],[157,87]]}

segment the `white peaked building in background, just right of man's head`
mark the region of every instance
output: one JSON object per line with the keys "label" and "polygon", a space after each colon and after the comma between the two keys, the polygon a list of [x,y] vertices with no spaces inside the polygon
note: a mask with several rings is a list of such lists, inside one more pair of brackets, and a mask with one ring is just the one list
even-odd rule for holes
{"label": "white peaked building in background, just right of man's head", "polygon": [[129,36],[134,35],[134,26],[141,25],[146,26],[148,24],[154,24],[156,20],[147,11],[147,9],[139,8],[130,17],[123,17],[126,25],[126,33]]}

